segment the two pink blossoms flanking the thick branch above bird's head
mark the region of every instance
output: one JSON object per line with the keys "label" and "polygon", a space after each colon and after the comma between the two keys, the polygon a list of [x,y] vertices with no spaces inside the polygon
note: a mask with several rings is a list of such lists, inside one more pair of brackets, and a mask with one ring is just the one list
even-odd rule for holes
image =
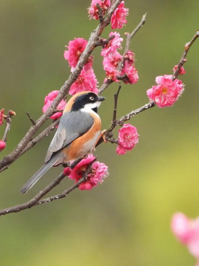
{"label": "two pink blossoms flanking the thick branch above bird's head", "polygon": [[[71,66],[71,71],[73,72],[74,67],[76,67],[79,57],[83,53],[87,44],[87,40],[83,38],[77,38],[73,41],[70,41],[68,46],[68,50],[64,52],[64,58],[68,60],[68,64]],[[77,78],[77,80],[71,85],[69,90],[69,94],[75,95],[81,91],[92,91],[98,93],[97,89],[97,79],[94,74],[93,68],[93,56],[88,58],[81,74]]]}

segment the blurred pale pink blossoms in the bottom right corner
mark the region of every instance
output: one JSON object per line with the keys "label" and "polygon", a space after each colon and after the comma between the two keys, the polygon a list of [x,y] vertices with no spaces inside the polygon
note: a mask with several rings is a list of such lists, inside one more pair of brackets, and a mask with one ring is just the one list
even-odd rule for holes
{"label": "blurred pale pink blossoms in the bottom right corner", "polygon": [[199,265],[199,217],[193,220],[183,213],[176,213],[172,217],[171,229],[178,241],[188,247]]}

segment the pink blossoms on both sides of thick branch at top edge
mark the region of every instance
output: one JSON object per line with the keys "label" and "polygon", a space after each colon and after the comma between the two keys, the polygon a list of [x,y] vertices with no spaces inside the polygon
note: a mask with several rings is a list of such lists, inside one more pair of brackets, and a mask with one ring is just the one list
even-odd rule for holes
{"label": "pink blossoms on both sides of thick branch at top edge", "polygon": [[[107,9],[110,7],[110,0],[92,0],[91,6],[88,8],[88,15],[93,19],[99,19],[99,11],[97,8],[97,3],[102,9],[103,15],[106,13]],[[125,8],[124,1],[118,5],[116,10],[113,12],[111,17],[111,28],[112,29],[121,29],[124,24],[127,23],[126,16],[128,15],[128,8]]]}

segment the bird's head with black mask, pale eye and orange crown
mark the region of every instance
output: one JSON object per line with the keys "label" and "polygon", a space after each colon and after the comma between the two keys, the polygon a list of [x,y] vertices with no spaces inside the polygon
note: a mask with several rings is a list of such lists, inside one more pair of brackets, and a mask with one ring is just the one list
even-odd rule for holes
{"label": "bird's head with black mask, pale eye and orange crown", "polygon": [[71,111],[78,111],[81,109],[89,109],[97,113],[97,108],[100,106],[101,102],[106,98],[98,96],[94,92],[84,92],[81,94],[74,95],[74,102],[71,108]]}

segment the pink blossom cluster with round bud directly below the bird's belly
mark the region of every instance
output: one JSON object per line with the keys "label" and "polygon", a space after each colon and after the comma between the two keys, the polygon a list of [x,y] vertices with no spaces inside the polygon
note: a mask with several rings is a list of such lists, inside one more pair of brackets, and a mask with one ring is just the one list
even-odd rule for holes
{"label": "pink blossom cluster with round bud directly below the bird's belly", "polygon": [[[88,168],[88,164],[95,159],[93,154],[89,154],[85,159],[82,159],[74,168],[71,170],[69,167],[64,168],[63,173],[68,175],[70,179],[78,180],[83,176],[84,171]],[[94,162],[92,164],[92,173],[87,176],[86,182],[79,185],[81,190],[90,190],[96,187],[99,183],[103,182],[103,179],[108,176],[108,167],[104,163]]]}

